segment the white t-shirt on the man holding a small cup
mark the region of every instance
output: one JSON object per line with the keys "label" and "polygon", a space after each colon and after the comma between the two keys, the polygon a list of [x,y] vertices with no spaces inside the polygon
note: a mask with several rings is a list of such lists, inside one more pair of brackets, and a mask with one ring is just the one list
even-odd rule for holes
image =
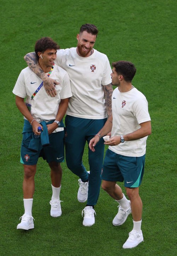
{"label": "white t-shirt on the man holding a small cup", "polygon": [[[128,92],[120,92],[118,88],[113,91],[112,113],[112,137],[134,132],[141,128],[140,123],[150,121],[148,102],[135,87]],[[124,156],[143,156],[146,150],[147,137],[109,146],[109,149]]]}

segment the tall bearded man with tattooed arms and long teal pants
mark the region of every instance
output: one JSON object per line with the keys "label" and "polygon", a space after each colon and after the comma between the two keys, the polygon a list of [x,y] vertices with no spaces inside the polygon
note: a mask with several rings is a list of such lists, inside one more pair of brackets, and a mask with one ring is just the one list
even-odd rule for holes
{"label": "tall bearded man with tattooed arms and long teal pants", "polygon": [[[68,72],[71,81],[73,96],[70,98],[65,118],[65,151],[68,168],[79,176],[78,201],[87,201],[82,210],[84,226],[95,223],[94,206],[101,185],[104,143],[100,140],[97,144],[97,153],[92,153],[89,149],[90,174],[82,163],[84,147],[112,113],[111,67],[107,56],[93,49],[97,34],[95,25],[82,25],[76,37],[77,47],[58,50],[55,60],[57,65]],[[55,96],[55,81],[42,72],[35,55],[27,54],[25,60],[29,68],[44,81],[47,93]]]}

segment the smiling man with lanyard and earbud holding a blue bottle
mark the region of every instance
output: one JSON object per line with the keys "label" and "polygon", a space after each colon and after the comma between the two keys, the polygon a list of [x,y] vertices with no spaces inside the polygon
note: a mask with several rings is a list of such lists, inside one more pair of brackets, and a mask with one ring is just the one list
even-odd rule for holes
{"label": "smiling man with lanyard and earbud holding a blue bottle", "polygon": [[[35,54],[41,69],[59,84],[56,85],[56,97],[46,95],[42,80],[28,67],[23,69],[17,79],[13,93],[16,105],[24,116],[23,139],[21,145],[21,163],[24,167],[23,202],[24,214],[17,229],[33,229],[32,204],[34,194],[34,176],[38,158],[42,156],[51,169],[52,198],[51,216],[62,214],[59,193],[61,189],[64,160],[63,116],[72,96],[67,72],[55,65],[59,46],[51,38],[44,37],[35,44]],[[25,102],[24,102],[24,98]],[[41,129],[41,133],[39,132]]]}

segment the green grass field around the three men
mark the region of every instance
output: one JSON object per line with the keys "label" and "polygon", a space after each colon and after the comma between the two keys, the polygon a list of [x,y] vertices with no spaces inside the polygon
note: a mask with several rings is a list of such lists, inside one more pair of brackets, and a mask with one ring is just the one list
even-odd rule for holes
{"label": "green grass field around the three men", "polygon": [[[0,0],[0,255],[2,256],[113,256],[176,255],[176,31],[175,0],[19,1]],[[143,201],[144,242],[122,249],[132,229],[128,217],[112,225],[116,202],[101,190],[95,207],[96,223],[82,225],[85,204],[77,201],[78,177],[63,163],[62,216],[50,217],[49,168],[41,159],[35,177],[34,230],[16,230],[23,214],[23,167],[19,163],[23,117],[12,89],[26,67],[23,56],[35,41],[49,36],[61,48],[75,47],[84,23],[99,29],[95,49],[110,64],[129,60],[137,68],[133,85],[147,97],[152,135],[147,140]],[[89,169],[87,147],[84,164]],[[121,185],[122,186],[122,185]],[[124,189],[123,189],[124,190]]]}

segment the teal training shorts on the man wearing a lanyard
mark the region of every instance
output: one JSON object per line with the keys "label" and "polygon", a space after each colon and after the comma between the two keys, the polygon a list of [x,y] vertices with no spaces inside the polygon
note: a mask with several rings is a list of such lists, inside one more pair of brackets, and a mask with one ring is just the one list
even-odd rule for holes
{"label": "teal training shorts on the man wearing a lanyard", "polygon": [[32,139],[32,132],[23,133],[21,145],[21,160],[24,165],[36,165],[38,158],[42,157],[47,163],[64,161],[64,131],[48,135],[49,145],[43,146],[40,143],[38,152],[28,148]]}

